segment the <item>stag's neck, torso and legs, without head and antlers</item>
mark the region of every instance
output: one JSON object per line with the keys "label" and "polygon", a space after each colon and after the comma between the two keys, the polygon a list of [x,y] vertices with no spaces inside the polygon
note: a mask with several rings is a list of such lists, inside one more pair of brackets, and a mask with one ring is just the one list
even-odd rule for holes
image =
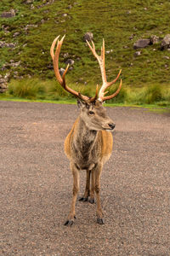
{"label": "stag's neck, torso and legs, without head and antlers", "polygon": [[[94,203],[94,191],[97,200],[97,220],[103,224],[103,213],[99,200],[99,177],[106,160],[111,156],[112,135],[108,131],[89,130],[84,121],[78,117],[65,139],[65,154],[71,160],[74,177],[71,212],[65,224],[72,224],[75,218],[75,204],[79,190],[79,172],[86,170],[86,189],[81,201]],[[90,186],[91,176],[91,186]]]}

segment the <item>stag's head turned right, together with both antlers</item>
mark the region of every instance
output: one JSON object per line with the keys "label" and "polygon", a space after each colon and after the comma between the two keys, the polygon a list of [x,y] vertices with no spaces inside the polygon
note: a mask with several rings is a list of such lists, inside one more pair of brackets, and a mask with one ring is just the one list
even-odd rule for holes
{"label": "stag's head turned right, together with both antlers", "polygon": [[[65,73],[63,73],[62,77],[59,74],[59,52],[63,44],[64,38],[65,36],[61,38],[60,41],[59,41],[59,36],[55,38],[50,49],[50,54],[54,62],[54,73],[55,73],[56,79],[59,81],[59,84],[61,84],[61,86],[65,90],[67,90],[72,95],[78,98],[78,106],[81,109],[80,116],[84,121],[85,125],[87,125],[88,129],[94,130],[94,131],[99,131],[99,130],[112,131],[115,128],[115,124],[108,117],[105,111],[105,108],[102,106],[102,103],[105,102],[106,100],[110,100],[111,98],[115,97],[121,90],[122,80],[119,84],[118,89],[114,94],[112,94],[111,96],[105,96],[105,94],[108,93],[108,91],[105,91],[105,90],[108,87],[110,87],[111,84],[116,83],[116,80],[119,78],[121,71],[118,73],[116,79],[112,80],[111,82],[107,82],[106,75],[105,75],[105,41],[103,40],[101,55],[97,55],[95,51],[94,42],[92,41],[93,46],[91,46],[87,41],[87,44],[89,48],[92,50],[94,57],[99,62],[103,84],[99,90],[99,94],[98,94],[98,85],[96,86],[96,92],[94,97],[83,96],[80,92],[77,92],[76,90],[72,90],[65,83],[65,74],[68,71],[69,64],[65,68]],[[54,53],[54,47],[56,42],[57,42],[57,47]]]}

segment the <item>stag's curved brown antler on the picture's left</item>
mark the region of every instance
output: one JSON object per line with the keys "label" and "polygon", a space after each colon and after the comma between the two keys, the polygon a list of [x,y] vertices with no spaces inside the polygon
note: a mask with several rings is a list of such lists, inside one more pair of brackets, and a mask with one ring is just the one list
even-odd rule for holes
{"label": "stag's curved brown antler on the picture's left", "polygon": [[[87,103],[88,102],[94,102],[98,97],[98,85],[96,87],[96,94],[92,98],[89,98],[88,96],[83,96],[80,92],[77,92],[76,90],[72,90],[70,87],[68,87],[66,85],[66,83],[65,83],[65,74],[68,71],[69,64],[65,68],[65,72],[63,73],[62,78],[61,78],[60,73],[59,73],[59,52],[60,52],[61,46],[63,44],[63,41],[65,39],[65,36],[63,38],[61,38],[60,41],[58,39],[59,39],[59,36],[54,39],[54,41],[51,45],[51,48],[50,48],[50,54],[51,54],[51,57],[52,57],[53,62],[54,62],[54,73],[55,73],[56,79],[59,81],[59,84],[61,84],[61,86],[65,90],[70,92],[72,95],[77,96],[78,98],[82,99],[82,101],[87,102]],[[56,48],[55,54],[54,54],[54,47],[55,47],[56,42],[57,42],[57,48]]]}

